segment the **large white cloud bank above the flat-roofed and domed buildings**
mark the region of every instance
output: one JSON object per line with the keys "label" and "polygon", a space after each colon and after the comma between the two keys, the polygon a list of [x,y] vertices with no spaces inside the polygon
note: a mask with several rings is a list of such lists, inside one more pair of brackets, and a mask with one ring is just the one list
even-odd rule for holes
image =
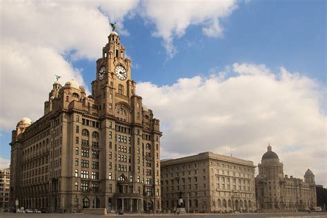
{"label": "large white cloud bank above the flat-roofed and domed buildings", "polygon": [[310,168],[317,183],[326,186],[321,90],[313,79],[285,68],[274,73],[250,63],[235,63],[208,78],[179,79],[172,86],[137,86],[143,103],[161,120],[163,158],[206,150],[230,155],[232,145],[233,156],[257,164],[270,142],[288,175],[303,177]]}

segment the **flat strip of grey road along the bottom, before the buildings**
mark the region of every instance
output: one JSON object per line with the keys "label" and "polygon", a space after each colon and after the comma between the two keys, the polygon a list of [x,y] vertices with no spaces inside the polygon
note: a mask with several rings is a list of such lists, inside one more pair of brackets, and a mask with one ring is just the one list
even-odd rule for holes
{"label": "flat strip of grey road along the bottom, before the buildings", "polygon": [[139,215],[139,214],[124,214],[124,215],[107,215],[107,216],[101,216],[101,215],[86,215],[86,214],[60,214],[60,213],[50,213],[50,214],[27,214],[27,213],[0,213],[0,218],[14,218],[14,217],[45,217],[45,218],[99,218],[99,217],[133,217],[133,218],[144,218],[144,217],[168,217],[168,218],[175,218],[175,217],[192,217],[192,218],[231,218],[231,217],[237,217],[237,218],[264,218],[264,217],[270,217],[270,218],[277,218],[277,217],[313,217],[313,218],[320,218],[320,217],[327,217],[327,212],[297,212],[297,213],[259,213],[259,214],[228,214],[228,215],[218,215],[218,214],[190,214],[190,215],[152,215],[152,214],[145,214],[145,215]]}

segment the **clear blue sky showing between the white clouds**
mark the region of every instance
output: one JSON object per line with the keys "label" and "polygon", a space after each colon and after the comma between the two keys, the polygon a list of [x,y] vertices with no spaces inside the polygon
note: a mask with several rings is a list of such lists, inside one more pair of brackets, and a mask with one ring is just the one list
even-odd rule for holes
{"label": "clear blue sky showing between the white clouds", "polygon": [[[241,2],[222,21],[222,38],[208,38],[200,26],[189,26],[183,37],[175,39],[177,54],[168,61],[162,40],[152,37],[153,25],[144,25],[139,16],[126,19],[124,27],[130,35],[121,36],[121,42],[137,66],[132,71],[135,81],[171,84],[180,77],[207,76],[211,68],[223,69],[238,61],[284,66],[326,85],[325,5],[324,1]],[[95,61],[81,59],[72,64],[83,68],[90,88]]]}

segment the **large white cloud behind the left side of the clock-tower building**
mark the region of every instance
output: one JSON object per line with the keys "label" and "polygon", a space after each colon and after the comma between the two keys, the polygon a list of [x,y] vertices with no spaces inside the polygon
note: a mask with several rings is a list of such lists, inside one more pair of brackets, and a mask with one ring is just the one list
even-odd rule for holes
{"label": "large white cloud behind the left side of the clock-tower building", "polygon": [[73,68],[64,57],[99,58],[111,32],[109,20],[118,22],[121,34],[128,34],[123,19],[137,4],[132,0],[1,1],[1,129],[14,128],[21,117],[35,120],[43,115],[54,74],[61,75],[61,83],[75,79],[87,88],[83,69]]}

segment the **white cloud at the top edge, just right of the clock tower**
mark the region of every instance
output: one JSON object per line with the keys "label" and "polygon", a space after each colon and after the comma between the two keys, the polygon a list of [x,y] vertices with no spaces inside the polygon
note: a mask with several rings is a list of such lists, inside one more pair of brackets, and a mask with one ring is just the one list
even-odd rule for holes
{"label": "white cloud at the top edge, just right of the clock tower", "polygon": [[221,37],[221,19],[228,17],[237,8],[234,0],[225,1],[142,1],[141,14],[148,23],[154,23],[155,37],[164,39],[169,57],[176,48],[175,37],[182,37],[191,25],[204,26],[202,31],[208,37]]}

